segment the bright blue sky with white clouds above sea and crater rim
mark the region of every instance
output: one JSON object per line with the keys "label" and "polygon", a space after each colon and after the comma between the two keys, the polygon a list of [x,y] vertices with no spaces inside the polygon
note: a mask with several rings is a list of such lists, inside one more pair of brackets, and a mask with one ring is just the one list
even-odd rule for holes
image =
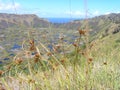
{"label": "bright blue sky with white clouds above sea and crater rim", "polygon": [[83,18],[120,13],[120,0],[0,0],[0,13]]}

